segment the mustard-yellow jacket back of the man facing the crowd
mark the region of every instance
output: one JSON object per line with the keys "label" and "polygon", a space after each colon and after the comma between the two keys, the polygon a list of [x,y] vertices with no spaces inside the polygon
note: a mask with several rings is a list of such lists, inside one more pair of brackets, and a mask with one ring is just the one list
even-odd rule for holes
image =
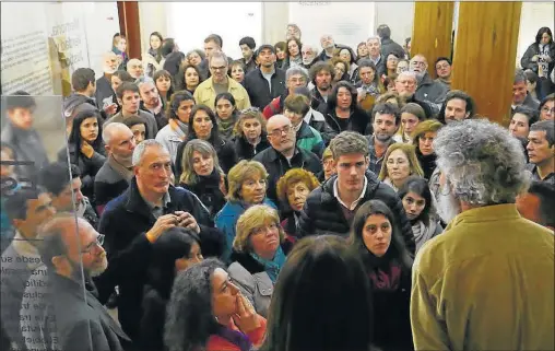
{"label": "mustard-yellow jacket back of the man facing the crowd", "polygon": [[468,210],[413,268],[417,350],[553,350],[554,236],[515,204]]}

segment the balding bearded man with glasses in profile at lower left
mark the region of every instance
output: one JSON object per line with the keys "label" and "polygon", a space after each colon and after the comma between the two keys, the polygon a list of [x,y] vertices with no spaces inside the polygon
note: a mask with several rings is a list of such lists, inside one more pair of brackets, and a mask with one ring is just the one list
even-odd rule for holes
{"label": "balding bearded man with glasses in profile at lower left", "polygon": [[68,351],[130,350],[131,340],[99,303],[91,279],[108,267],[104,235],[85,220],[75,223],[73,215],[60,213],[39,236],[40,258],[48,271],[43,327],[57,336],[45,341]]}

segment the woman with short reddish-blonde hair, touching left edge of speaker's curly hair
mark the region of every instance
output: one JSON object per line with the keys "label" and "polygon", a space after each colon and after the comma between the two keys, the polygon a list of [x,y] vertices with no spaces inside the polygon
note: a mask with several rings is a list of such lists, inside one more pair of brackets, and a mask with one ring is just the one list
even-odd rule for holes
{"label": "woman with short reddish-blonde hair, touching left edge of speaker's curly hair", "polygon": [[434,139],[437,131],[444,125],[435,119],[428,119],[420,122],[413,130],[411,138],[415,148],[416,159],[424,171],[424,178],[430,179],[436,169],[436,152],[434,151]]}

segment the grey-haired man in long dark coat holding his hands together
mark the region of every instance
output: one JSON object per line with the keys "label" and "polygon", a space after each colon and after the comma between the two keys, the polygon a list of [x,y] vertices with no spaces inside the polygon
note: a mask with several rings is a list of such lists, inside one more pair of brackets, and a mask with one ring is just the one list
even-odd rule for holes
{"label": "grey-haired man in long dark coat holding his hands together", "polygon": [[118,317],[126,334],[138,337],[145,271],[151,244],[174,226],[199,234],[202,253],[220,256],[223,234],[214,229],[209,211],[197,196],[169,184],[172,159],[164,145],[144,140],[133,151],[133,173],[129,188],[108,202],[99,232],[106,235],[108,269],[96,279],[99,301],[106,303],[119,285]]}

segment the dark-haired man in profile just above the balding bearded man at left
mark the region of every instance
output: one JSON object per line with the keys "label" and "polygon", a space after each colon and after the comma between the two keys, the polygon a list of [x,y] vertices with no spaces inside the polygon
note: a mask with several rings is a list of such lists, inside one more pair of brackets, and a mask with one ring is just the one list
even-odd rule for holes
{"label": "dark-haired man in profile just above the balding bearded man at left", "polygon": [[[98,226],[98,217],[86,196],[81,192],[81,172],[78,166],[64,162],[54,162],[40,169],[39,185],[52,199],[57,212],[73,212],[85,219],[94,229]],[[71,174],[68,172],[71,171]]]}

